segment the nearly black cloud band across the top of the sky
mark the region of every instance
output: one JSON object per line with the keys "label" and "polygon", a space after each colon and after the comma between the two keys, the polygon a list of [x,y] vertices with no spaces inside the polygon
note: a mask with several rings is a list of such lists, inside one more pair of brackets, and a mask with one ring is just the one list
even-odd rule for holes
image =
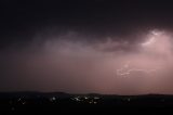
{"label": "nearly black cloud band across the top of the sky", "polygon": [[1,8],[1,46],[28,42],[40,31],[75,30],[101,39],[173,27],[172,3],[165,1],[2,0]]}

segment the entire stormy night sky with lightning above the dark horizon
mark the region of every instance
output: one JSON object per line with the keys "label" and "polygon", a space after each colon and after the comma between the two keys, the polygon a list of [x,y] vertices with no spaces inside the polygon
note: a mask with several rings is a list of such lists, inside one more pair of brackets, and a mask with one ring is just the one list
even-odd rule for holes
{"label": "entire stormy night sky with lightning above the dark horizon", "polygon": [[172,5],[1,0],[0,91],[173,93]]}

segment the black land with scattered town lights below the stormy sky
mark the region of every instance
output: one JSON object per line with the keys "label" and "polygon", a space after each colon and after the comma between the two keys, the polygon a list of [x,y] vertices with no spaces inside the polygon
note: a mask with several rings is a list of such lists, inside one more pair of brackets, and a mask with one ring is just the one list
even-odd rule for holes
{"label": "black land with scattered town lights below the stormy sky", "polygon": [[39,92],[0,93],[1,112],[173,113],[173,95],[103,95]]}

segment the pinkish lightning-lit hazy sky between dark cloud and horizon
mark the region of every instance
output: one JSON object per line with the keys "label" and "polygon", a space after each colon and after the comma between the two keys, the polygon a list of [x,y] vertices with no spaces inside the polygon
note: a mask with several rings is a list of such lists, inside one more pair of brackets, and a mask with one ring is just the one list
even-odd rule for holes
{"label": "pinkish lightning-lit hazy sky between dark cloud and horizon", "polygon": [[150,30],[133,40],[106,37],[90,42],[88,37],[36,37],[27,46],[1,50],[0,90],[173,93],[170,33]]}

